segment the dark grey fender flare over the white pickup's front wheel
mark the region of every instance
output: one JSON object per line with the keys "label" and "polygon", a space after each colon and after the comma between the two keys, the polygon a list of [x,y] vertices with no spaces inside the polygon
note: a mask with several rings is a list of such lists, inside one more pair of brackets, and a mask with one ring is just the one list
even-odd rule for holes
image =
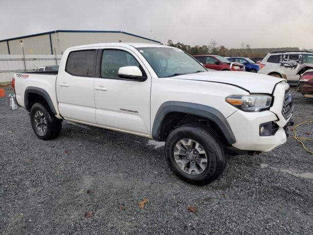
{"label": "dark grey fender flare over the white pickup's front wheel", "polygon": [[[169,124],[169,126],[175,126],[175,123],[177,122],[177,120],[176,122],[174,120],[174,123],[166,123],[166,117],[173,113],[207,118],[220,129],[221,134],[224,135],[224,140],[227,144],[230,145],[236,142],[235,136],[226,118],[219,110],[202,104],[181,101],[167,101],[159,107],[152,127],[152,137],[154,140],[165,141],[168,134],[165,131],[167,124]],[[179,117],[179,119],[182,118],[183,117],[181,116]]]}

